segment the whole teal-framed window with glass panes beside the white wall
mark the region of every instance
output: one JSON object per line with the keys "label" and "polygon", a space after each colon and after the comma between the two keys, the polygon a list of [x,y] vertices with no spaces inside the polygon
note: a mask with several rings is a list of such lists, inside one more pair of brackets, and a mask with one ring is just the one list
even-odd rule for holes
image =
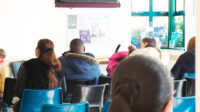
{"label": "whole teal-framed window with glass panes beside the white wall", "polygon": [[184,48],[184,0],[132,0],[131,42],[154,37],[161,48]]}

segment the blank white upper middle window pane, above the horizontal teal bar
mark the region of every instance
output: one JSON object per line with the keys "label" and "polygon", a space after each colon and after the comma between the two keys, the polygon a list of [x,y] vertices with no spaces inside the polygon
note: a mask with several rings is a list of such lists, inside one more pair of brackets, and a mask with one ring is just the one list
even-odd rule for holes
{"label": "blank white upper middle window pane, above the horizontal teal bar", "polygon": [[168,0],[153,0],[153,11],[168,11]]}

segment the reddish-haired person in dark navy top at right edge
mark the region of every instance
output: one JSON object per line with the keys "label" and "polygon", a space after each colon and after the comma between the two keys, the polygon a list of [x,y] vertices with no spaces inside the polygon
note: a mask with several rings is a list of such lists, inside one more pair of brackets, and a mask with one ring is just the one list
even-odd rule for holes
{"label": "reddish-haired person in dark navy top at right edge", "polygon": [[180,80],[184,73],[195,73],[195,37],[188,42],[187,51],[183,53],[171,69],[175,80]]}

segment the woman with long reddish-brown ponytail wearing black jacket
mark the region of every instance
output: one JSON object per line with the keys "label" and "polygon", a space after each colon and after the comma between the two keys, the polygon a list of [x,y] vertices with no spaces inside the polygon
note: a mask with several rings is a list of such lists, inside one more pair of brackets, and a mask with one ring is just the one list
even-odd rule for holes
{"label": "woman with long reddish-brown ponytail wearing black jacket", "polygon": [[49,39],[41,39],[36,48],[36,57],[24,62],[18,72],[16,96],[20,100],[14,105],[14,112],[19,112],[24,89],[53,89],[62,87],[66,93],[65,78],[61,64],[54,53],[54,44]]}

